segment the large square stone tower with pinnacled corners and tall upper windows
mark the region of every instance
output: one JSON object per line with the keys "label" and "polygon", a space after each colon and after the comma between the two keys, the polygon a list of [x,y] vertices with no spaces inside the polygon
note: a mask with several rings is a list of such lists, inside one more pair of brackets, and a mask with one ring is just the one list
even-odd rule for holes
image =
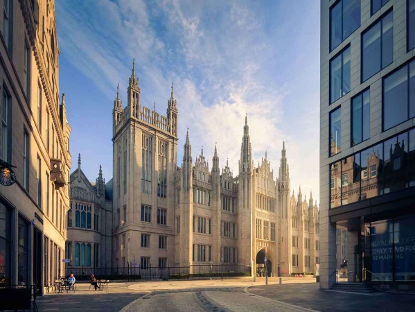
{"label": "large square stone tower with pinnacled corners and tall upper windows", "polygon": [[[141,105],[140,92],[133,60],[127,107],[117,88],[113,110],[113,265],[164,268],[175,264],[177,132],[155,105]],[[177,120],[173,92],[170,101]]]}

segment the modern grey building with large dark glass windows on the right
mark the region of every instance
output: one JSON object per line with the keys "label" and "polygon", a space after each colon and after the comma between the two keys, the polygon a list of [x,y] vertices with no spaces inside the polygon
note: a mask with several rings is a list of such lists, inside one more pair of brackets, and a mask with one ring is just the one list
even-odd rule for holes
{"label": "modern grey building with large dark glass windows on the right", "polygon": [[415,288],[414,48],[415,0],[321,1],[321,288],[339,229],[348,281]]}

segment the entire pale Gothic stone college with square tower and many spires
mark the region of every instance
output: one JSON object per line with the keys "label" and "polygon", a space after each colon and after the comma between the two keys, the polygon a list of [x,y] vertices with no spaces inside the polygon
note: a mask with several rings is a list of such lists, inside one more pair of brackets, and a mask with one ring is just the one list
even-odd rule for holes
{"label": "entire pale Gothic stone college with square tower and many spires", "polygon": [[89,182],[80,156],[71,174],[68,270],[122,275],[136,268],[144,276],[150,268],[195,274],[224,264],[227,272],[263,275],[267,262],[270,276],[316,271],[319,209],[311,194],[307,201],[301,190],[297,198],[290,193],[284,144],[278,177],[266,153],[254,166],[245,117],[236,177],[228,163],[220,168],[216,147],[211,168],[203,149],[193,162],[188,134],[178,166],[173,85],[166,116],[140,98],[133,63],[127,107],[119,89],[114,101],[113,179],[105,183],[100,169]]}

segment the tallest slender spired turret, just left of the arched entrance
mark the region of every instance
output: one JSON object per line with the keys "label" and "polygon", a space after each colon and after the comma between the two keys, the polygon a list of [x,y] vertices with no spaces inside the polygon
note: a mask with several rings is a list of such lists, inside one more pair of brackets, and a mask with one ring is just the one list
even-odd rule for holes
{"label": "tallest slender spired turret, just left of the arched entrance", "polygon": [[249,127],[245,116],[244,135],[240,147],[239,161],[239,193],[238,193],[238,225],[239,225],[239,262],[252,263],[251,271],[254,276],[254,205],[252,205],[252,191],[254,191],[254,175],[252,172],[254,162],[252,160],[251,141],[249,139]]}

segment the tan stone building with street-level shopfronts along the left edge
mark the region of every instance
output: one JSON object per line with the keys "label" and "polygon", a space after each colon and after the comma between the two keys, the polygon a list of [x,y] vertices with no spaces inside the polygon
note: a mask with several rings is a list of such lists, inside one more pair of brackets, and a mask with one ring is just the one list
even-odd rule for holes
{"label": "tan stone building with street-level shopfronts along the left edge", "polygon": [[0,171],[3,184],[9,164],[16,177],[0,185],[0,284],[35,284],[42,293],[62,275],[71,168],[55,4],[0,7]]}

